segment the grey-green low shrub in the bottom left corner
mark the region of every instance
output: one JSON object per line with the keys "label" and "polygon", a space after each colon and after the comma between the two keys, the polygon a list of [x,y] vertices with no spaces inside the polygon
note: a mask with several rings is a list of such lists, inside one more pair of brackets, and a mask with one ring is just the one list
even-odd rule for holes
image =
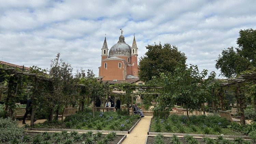
{"label": "grey-green low shrub in the bottom left corner", "polygon": [[11,141],[14,138],[21,138],[24,133],[23,128],[19,128],[15,121],[9,118],[0,118],[0,142]]}

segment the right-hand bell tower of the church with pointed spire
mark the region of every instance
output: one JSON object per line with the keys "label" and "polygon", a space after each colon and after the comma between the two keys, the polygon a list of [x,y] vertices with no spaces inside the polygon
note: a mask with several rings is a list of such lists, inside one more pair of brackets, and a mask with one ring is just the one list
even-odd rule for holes
{"label": "right-hand bell tower of the church with pointed spire", "polygon": [[131,46],[131,64],[132,75],[138,77],[138,47],[135,40],[135,33],[133,34],[133,42]]}

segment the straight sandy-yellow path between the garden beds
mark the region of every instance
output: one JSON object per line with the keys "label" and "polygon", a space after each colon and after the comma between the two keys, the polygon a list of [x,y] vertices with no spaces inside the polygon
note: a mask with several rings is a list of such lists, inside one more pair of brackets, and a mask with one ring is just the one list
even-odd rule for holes
{"label": "straight sandy-yellow path between the garden beds", "polygon": [[145,116],[141,118],[137,126],[127,134],[126,139],[122,144],[143,144],[145,143],[148,126],[150,124],[152,116]]}

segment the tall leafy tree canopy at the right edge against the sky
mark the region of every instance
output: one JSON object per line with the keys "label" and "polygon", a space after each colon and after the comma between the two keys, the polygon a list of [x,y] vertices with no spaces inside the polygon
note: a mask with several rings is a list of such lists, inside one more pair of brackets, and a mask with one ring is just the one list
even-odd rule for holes
{"label": "tall leafy tree canopy at the right edge against the sky", "polygon": [[238,48],[224,49],[216,60],[215,67],[228,78],[256,67],[256,30],[240,30],[237,44]]}

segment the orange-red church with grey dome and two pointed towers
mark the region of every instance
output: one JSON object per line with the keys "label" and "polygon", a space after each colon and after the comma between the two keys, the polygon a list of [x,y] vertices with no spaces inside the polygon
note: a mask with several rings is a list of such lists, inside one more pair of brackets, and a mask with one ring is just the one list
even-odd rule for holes
{"label": "orange-red church with grey dome and two pointed towers", "polygon": [[[99,77],[105,80],[138,80],[138,47],[135,36],[132,46],[125,43],[121,35],[116,44],[108,51],[106,38],[101,48],[101,66]],[[108,53],[109,52],[109,53]]]}

